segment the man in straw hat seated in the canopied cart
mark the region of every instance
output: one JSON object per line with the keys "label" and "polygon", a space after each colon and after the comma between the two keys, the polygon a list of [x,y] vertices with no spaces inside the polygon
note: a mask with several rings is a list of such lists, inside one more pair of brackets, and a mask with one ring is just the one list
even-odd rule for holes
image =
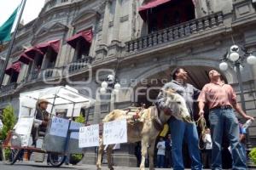
{"label": "man in straw hat seated in the canopied cart", "polygon": [[34,123],[32,127],[32,145],[35,147],[37,145],[39,132],[45,133],[49,122],[49,113],[46,111],[48,104],[49,101],[46,99],[38,99],[36,104],[35,118],[39,121]]}

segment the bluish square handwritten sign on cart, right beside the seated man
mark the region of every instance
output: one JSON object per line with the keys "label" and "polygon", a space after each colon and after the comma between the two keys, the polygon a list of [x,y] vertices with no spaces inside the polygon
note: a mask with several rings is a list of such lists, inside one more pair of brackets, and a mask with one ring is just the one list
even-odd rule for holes
{"label": "bluish square handwritten sign on cart, right beside the seated man", "polygon": [[69,120],[54,116],[51,120],[49,134],[53,136],[67,137]]}

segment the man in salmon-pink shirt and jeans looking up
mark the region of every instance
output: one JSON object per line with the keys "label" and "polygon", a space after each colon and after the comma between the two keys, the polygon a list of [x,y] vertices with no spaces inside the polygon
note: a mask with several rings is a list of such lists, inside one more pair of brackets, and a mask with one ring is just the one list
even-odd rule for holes
{"label": "man in salmon-pink shirt and jeans looking up", "polygon": [[242,117],[254,120],[252,116],[247,116],[241,110],[241,106],[236,102],[236,93],[229,85],[221,81],[218,71],[209,71],[211,82],[207,83],[199,95],[199,115],[204,115],[204,107],[209,107],[209,121],[212,135],[212,169],[222,169],[222,139],[224,133],[230,140],[233,156],[233,168],[237,170],[247,169],[247,161],[241,155],[242,147],[239,142],[239,124],[235,109]]}

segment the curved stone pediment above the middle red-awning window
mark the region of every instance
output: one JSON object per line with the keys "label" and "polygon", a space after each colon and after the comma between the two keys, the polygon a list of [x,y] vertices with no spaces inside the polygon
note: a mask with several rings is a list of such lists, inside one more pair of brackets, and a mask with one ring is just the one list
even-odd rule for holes
{"label": "curved stone pediment above the middle red-awning window", "polygon": [[81,11],[73,20],[72,26],[77,26],[81,23],[86,22],[87,20],[99,20],[101,14],[94,9],[86,9]]}

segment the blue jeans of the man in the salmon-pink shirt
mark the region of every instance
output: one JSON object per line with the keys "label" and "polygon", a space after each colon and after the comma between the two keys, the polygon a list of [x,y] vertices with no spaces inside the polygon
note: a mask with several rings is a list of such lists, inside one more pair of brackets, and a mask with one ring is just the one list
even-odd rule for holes
{"label": "blue jeans of the man in the salmon-pink shirt", "polygon": [[245,156],[239,142],[238,120],[232,109],[214,109],[210,111],[209,120],[212,134],[212,170],[222,169],[222,139],[224,133],[232,149],[233,170],[247,169]]}

